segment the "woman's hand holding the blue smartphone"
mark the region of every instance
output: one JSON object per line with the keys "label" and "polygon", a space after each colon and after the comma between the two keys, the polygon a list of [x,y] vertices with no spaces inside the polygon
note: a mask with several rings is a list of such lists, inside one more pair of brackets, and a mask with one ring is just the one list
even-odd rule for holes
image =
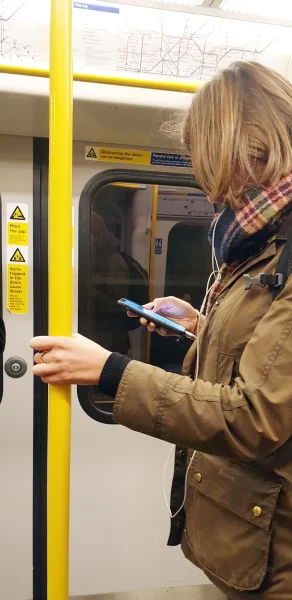
{"label": "woman's hand holding the blue smartphone", "polygon": [[[144,304],[144,307],[148,310],[153,310],[159,315],[163,317],[167,317],[168,319],[172,319],[179,325],[183,325],[186,327],[188,331],[198,334],[198,317],[199,312],[193,308],[189,302],[185,302],[180,298],[175,298],[174,296],[167,296],[166,298],[156,298],[153,302],[149,302],[148,304]],[[133,313],[128,313],[129,317],[134,317]],[[205,321],[205,317],[201,315],[200,317],[200,328],[203,326]],[[140,319],[141,325],[147,326],[148,331],[153,332],[157,331],[159,335],[163,336],[173,336],[175,333],[164,329],[163,327],[156,327],[154,323],[148,323],[146,319]]]}

